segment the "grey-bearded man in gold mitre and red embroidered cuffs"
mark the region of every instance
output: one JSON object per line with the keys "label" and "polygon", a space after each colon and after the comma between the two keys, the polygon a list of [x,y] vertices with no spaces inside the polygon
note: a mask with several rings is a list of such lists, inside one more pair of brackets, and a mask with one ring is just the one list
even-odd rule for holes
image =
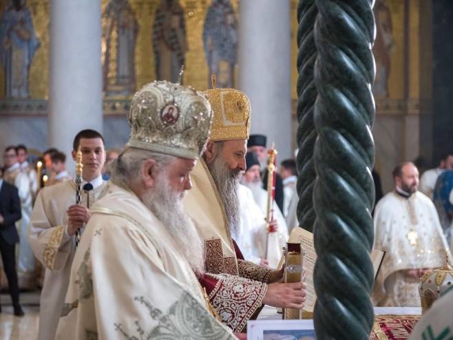
{"label": "grey-bearded man in gold mitre and red embroidered cuffs", "polygon": [[236,89],[210,89],[205,94],[213,108],[213,124],[207,149],[191,174],[193,188],[183,203],[204,241],[206,271],[214,274],[200,277],[200,284],[222,322],[240,332],[264,304],[302,308],[306,293],[302,283],[280,283],[282,270],[246,261],[236,244],[238,184],[245,170],[251,105]]}

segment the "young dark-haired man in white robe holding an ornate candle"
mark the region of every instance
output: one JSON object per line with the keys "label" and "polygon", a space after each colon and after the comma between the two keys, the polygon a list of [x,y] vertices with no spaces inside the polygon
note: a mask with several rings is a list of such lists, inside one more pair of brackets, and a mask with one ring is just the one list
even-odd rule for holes
{"label": "young dark-haired man in white robe holding an ornate candle", "polygon": [[101,177],[105,162],[104,140],[94,130],[82,130],[74,138],[72,157],[80,146],[82,152],[81,204],[76,204],[74,180],[41,189],[36,198],[28,241],[39,262],[45,266],[41,306],[39,309],[39,340],[54,339],[63,307],[70,268],[76,252],[76,231],[83,233],[94,204],[106,182]]}

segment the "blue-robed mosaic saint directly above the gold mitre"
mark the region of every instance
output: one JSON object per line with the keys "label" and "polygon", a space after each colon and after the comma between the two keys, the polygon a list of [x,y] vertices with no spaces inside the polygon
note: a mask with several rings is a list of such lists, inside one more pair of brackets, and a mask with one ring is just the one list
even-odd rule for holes
{"label": "blue-robed mosaic saint directly above the gold mitre", "polygon": [[213,0],[208,8],[203,28],[211,85],[211,74],[217,77],[218,87],[234,87],[234,67],[238,53],[238,22],[229,0]]}

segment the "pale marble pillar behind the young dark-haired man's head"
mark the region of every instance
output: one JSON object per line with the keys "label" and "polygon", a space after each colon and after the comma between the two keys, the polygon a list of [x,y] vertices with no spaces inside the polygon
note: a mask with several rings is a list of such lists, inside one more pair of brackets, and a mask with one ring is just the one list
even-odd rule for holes
{"label": "pale marble pillar behind the young dark-haired man's head", "polygon": [[101,0],[50,1],[49,65],[48,145],[70,160],[78,131],[102,133]]}

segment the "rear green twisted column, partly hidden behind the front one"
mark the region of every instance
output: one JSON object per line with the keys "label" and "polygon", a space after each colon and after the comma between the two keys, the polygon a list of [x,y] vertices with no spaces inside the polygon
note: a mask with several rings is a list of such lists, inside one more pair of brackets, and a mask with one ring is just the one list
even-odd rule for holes
{"label": "rear green twisted column, partly hidden behind the front one", "polygon": [[299,226],[313,231],[316,214],[313,207],[313,187],[315,184],[315,100],[317,96],[314,68],[316,61],[315,20],[317,8],[315,0],[299,0],[297,3],[297,220]]}

